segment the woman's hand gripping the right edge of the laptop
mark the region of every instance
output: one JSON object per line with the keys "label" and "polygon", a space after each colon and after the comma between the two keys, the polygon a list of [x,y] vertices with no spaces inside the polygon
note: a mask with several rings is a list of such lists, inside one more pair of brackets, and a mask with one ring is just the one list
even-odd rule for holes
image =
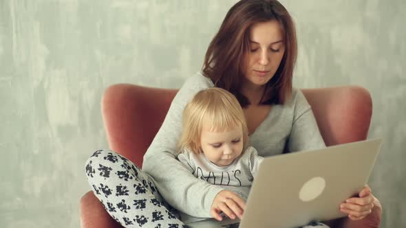
{"label": "woman's hand gripping the right edge of the laptop", "polygon": [[341,203],[340,211],[348,214],[351,220],[361,220],[371,214],[374,207],[374,196],[370,187],[365,185],[359,192],[359,197],[349,198],[345,203]]}

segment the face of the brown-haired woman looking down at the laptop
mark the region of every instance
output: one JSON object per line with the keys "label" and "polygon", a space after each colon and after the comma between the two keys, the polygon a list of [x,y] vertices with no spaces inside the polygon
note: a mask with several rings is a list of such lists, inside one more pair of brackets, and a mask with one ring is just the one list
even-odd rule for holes
{"label": "face of the brown-haired woman looking down at the laptop", "polygon": [[244,55],[244,87],[263,87],[277,71],[285,53],[279,22],[272,20],[250,27],[250,48]]}

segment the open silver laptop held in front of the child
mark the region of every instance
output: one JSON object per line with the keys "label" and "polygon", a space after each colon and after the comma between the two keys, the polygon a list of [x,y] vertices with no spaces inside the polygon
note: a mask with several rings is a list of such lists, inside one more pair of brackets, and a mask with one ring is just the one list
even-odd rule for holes
{"label": "open silver laptop held in front of the child", "polygon": [[266,157],[253,182],[242,220],[215,219],[192,228],[291,228],[346,216],[339,205],[368,181],[382,139]]}

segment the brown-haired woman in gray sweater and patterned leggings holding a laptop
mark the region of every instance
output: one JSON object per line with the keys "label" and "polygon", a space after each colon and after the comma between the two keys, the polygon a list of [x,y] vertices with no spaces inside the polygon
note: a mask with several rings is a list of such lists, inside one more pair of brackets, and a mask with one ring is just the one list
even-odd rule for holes
{"label": "brown-haired woman in gray sweater and patterned leggings holding a laptop", "polygon": [[[95,166],[103,171],[87,174],[109,214],[128,227],[182,225],[164,207],[167,202],[195,217],[220,220],[220,212],[224,212],[230,218],[241,218],[244,201],[239,196],[196,179],[175,159],[182,111],[198,91],[220,87],[233,93],[242,105],[250,143],[259,155],[325,147],[306,98],[292,88],[296,58],[295,25],[281,3],[242,0],[233,5],[209,45],[202,72],[186,80],[173,100],[145,154],[142,172],[109,150],[98,151],[88,160],[87,171]],[[365,187],[359,197],[337,207],[348,214],[345,222],[350,226],[372,212],[374,200]]]}

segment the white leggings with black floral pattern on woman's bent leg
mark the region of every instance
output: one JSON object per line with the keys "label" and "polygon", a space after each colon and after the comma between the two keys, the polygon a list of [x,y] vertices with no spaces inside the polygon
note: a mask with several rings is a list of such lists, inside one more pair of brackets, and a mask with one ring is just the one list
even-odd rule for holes
{"label": "white leggings with black floral pattern on woman's bent leg", "polygon": [[94,152],[86,161],[86,174],[96,197],[123,227],[186,227],[151,177],[116,152]]}

